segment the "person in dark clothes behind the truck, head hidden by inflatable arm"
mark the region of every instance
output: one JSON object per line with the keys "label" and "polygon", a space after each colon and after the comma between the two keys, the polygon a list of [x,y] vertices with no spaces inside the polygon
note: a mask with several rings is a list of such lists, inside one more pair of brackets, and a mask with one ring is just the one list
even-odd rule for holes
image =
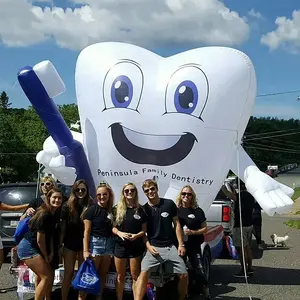
{"label": "person in dark clothes behind the truck, head hidden by inflatable arm", "polygon": [[[252,211],[254,207],[255,199],[254,197],[246,190],[245,184],[241,181],[240,183],[240,194],[241,194],[241,207],[239,207],[239,195],[234,194],[227,190],[225,186],[222,187],[224,194],[230,199],[234,200],[234,227],[233,227],[233,245],[236,247],[238,252],[241,270],[234,274],[235,277],[245,277],[244,272],[244,261],[242,254],[242,246],[244,247],[245,253],[245,266],[247,276],[253,275],[252,269],[252,251],[251,251],[251,240],[252,240],[252,230],[253,230],[253,221],[252,221]],[[240,219],[241,211],[241,219]],[[241,239],[241,226],[243,232],[243,244]]]}

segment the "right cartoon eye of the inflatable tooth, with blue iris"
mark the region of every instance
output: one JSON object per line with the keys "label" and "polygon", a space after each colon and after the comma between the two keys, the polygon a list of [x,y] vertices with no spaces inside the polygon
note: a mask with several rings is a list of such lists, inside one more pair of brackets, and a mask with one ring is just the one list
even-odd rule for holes
{"label": "right cartoon eye of the inflatable tooth, with blue iris", "polygon": [[208,80],[198,66],[184,66],[171,76],[166,90],[166,113],[201,119],[208,97]]}

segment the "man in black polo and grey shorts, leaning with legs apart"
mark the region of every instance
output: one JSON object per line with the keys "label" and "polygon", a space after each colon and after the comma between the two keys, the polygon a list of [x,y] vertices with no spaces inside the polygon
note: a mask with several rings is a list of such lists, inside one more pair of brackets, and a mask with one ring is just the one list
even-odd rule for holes
{"label": "man in black polo and grey shorts, leaning with legs apart", "polygon": [[[183,300],[187,295],[188,277],[182,259],[185,248],[182,228],[177,217],[177,206],[172,200],[159,198],[157,183],[152,179],[144,181],[143,191],[148,198],[148,203],[144,205],[148,215],[145,237],[147,252],[142,260],[135,300],[143,299],[149,272],[163,262],[173,265],[173,272],[179,277],[178,299]],[[177,244],[178,249],[175,247]]]}

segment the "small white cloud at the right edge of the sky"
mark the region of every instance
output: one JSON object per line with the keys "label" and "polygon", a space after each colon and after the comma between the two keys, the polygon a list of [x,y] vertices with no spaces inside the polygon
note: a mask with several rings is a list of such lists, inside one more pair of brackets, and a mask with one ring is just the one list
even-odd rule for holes
{"label": "small white cloud at the right edge of the sky", "polygon": [[292,18],[277,17],[276,30],[268,32],[261,37],[261,44],[276,50],[280,47],[291,52],[300,50],[300,10],[293,11]]}

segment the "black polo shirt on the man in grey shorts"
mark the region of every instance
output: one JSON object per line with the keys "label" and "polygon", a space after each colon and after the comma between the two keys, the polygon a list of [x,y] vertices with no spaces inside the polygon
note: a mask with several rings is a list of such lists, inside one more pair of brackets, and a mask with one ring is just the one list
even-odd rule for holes
{"label": "black polo shirt on the man in grey shorts", "polygon": [[160,198],[158,205],[144,205],[148,215],[147,237],[152,246],[169,247],[177,245],[173,218],[177,216],[177,206],[172,200]]}

